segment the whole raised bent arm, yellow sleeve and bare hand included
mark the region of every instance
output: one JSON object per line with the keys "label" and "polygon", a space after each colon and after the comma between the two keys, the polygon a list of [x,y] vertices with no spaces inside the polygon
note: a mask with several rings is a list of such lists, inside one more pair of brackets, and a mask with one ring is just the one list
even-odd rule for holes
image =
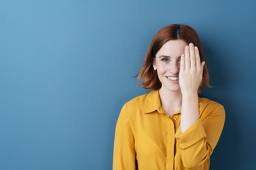
{"label": "whole raised bent arm, yellow sleeve and bare hand included", "polygon": [[[184,166],[195,168],[210,157],[217,144],[224,125],[225,111],[222,105],[216,103],[199,110],[197,90],[202,81],[205,62],[201,63],[198,48],[194,48],[193,44],[189,46],[181,57],[181,127],[175,138]],[[199,112],[205,118],[200,119]]]}

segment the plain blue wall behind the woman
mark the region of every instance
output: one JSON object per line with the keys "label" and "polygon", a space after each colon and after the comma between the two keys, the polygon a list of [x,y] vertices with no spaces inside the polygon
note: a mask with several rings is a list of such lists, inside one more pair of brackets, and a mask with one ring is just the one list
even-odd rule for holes
{"label": "plain blue wall behind the woman", "polygon": [[185,23],[225,126],[210,169],[255,167],[255,1],[1,1],[0,168],[111,169],[125,102],[155,33]]}

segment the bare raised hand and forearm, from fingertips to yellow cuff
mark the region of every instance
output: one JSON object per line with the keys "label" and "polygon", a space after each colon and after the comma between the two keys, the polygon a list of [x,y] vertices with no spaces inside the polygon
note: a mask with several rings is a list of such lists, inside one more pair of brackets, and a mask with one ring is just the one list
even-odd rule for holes
{"label": "bare raised hand and forearm, from fingertips to yellow cuff", "polygon": [[[189,47],[190,46],[190,47]],[[200,62],[198,48],[191,43],[181,57],[180,87],[182,92],[181,131],[185,132],[199,119],[197,90],[202,81],[205,62]]]}

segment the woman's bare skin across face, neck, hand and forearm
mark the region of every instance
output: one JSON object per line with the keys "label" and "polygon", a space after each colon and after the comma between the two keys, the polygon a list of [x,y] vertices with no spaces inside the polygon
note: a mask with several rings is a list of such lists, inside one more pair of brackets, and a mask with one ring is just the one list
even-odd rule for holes
{"label": "woman's bare skin across face, neck, hand and forearm", "polygon": [[[170,117],[182,109],[182,133],[199,120],[197,90],[202,81],[204,64],[200,61],[198,48],[183,40],[167,41],[153,61],[162,83],[159,89],[161,106]],[[168,76],[179,77],[179,80],[169,80]]]}

